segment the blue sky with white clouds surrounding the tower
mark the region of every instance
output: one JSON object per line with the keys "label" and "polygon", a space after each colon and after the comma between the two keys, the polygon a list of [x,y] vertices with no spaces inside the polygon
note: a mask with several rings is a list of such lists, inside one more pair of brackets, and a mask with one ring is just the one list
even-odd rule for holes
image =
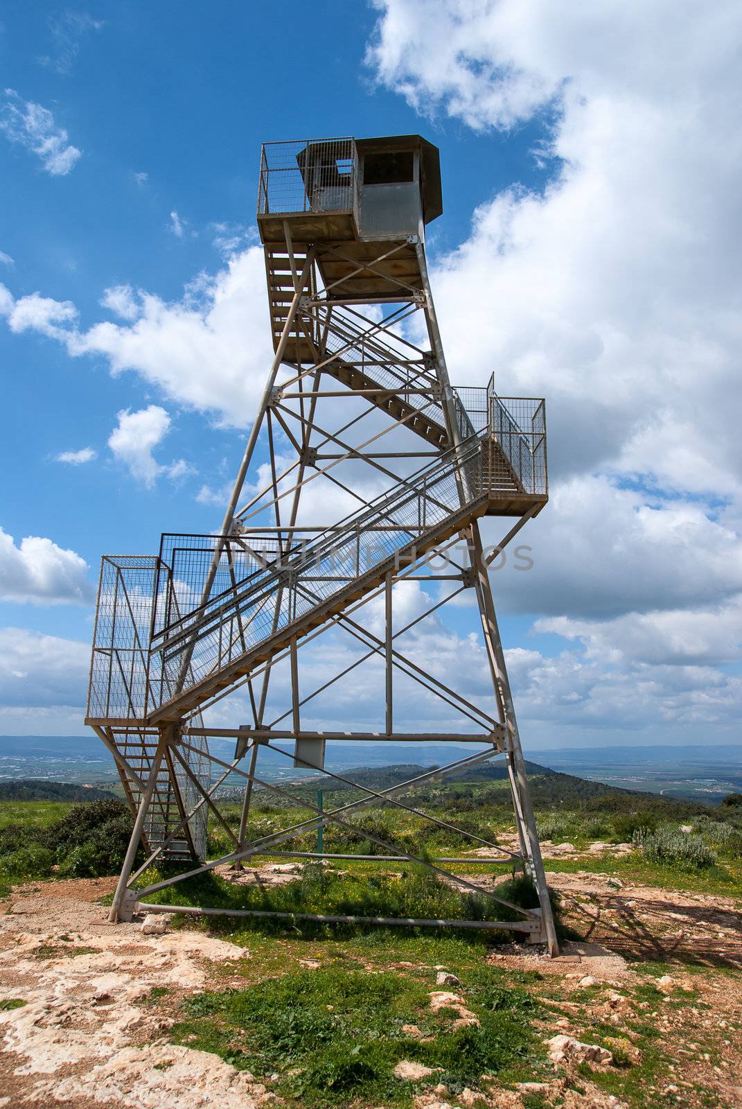
{"label": "blue sky with white clouds surrounding the tower", "polygon": [[[419,131],[441,152],[428,251],[451,376],[496,368],[550,406],[536,569],[496,580],[533,744],[734,741],[740,460],[714,415],[739,324],[735,151],[715,141],[731,17],[693,43],[690,14],[668,41],[663,12],[6,4],[0,732],[81,730],[102,551],[218,523],[204,487],[233,474],[267,369],[261,142]],[[153,408],[152,454],[112,449],[120,414]]]}

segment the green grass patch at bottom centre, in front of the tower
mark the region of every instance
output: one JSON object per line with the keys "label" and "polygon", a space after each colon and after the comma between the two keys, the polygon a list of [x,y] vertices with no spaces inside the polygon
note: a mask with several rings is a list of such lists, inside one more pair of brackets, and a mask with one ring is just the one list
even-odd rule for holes
{"label": "green grass patch at bottom centre, in front of the tower", "polygon": [[[433,1014],[430,984],[419,977],[329,966],[189,998],[172,1036],[256,1076],[277,1071],[276,1092],[307,1109],[410,1105],[429,1080],[395,1078],[403,1059],[435,1070],[454,1093],[481,1089],[486,1074],[510,1082],[546,1070],[538,1001],[520,987],[502,988],[488,968],[471,973],[467,985],[466,1005],[479,1027],[454,1029],[458,1014]],[[405,1034],[404,1025],[417,1026],[425,1039]]]}

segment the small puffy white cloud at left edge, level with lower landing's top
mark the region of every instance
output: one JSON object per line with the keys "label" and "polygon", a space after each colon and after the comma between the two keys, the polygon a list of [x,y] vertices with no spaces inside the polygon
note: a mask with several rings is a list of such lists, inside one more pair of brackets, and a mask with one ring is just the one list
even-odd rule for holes
{"label": "small puffy white cloud at left edge, level with lower landing's top", "polygon": [[27,536],[19,547],[0,528],[0,600],[33,604],[88,603],[93,587],[88,564],[74,551],[40,536]]}

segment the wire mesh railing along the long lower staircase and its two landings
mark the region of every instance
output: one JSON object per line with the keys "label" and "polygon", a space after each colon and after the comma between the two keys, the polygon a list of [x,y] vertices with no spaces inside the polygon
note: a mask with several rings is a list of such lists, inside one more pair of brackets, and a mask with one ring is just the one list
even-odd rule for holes
{"label": "wire mesh railing along the long lower staircase and its two landings", "polygon": [[104,558],[89,716],[146,719],[301,622],[378,562],[415,545],[424,549],[425,537],[461,507],[499,498],[511,512],[507,498],[545,497],[543,401],[498,397],[491,383],[456,389],[454,399],[460,446],[333,528],[305,535],[166,533],[157,557]]}

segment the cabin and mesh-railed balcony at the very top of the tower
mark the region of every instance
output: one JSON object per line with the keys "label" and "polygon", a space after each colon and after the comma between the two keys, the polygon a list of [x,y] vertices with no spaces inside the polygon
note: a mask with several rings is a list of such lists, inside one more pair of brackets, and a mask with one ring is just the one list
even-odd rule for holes
{"label": "cabin and mesh-railed balcony at the very top of the tower", "polygon": [[443,212],[438,147],[420,135],[265,143],[257,225],[265,244],[394,242]]}

